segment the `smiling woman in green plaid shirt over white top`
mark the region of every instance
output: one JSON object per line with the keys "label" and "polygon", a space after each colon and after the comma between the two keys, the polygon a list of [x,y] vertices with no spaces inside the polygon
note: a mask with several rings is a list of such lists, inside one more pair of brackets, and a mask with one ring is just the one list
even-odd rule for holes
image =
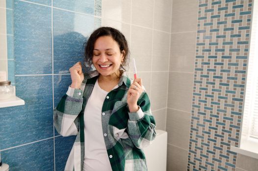
{"label": "smiling woman in green plaid shirt over white top", "polygon": [[77,135],[65,171],[146,171],[143,147],[155,138],[155,120],[140,78],[124,73],[129,48],[111,27],[95,30],[85,60],[96,70],[70,68],[72,84],[54,109],[62,136]]}

